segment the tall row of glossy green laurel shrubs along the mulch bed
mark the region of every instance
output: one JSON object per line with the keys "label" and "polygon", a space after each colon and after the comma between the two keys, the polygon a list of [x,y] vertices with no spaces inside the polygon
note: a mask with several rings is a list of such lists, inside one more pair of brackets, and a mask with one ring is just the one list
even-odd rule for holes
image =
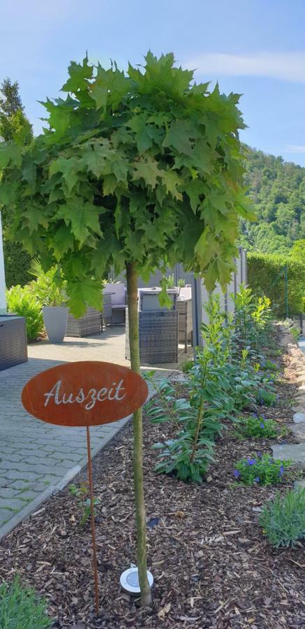
{"label": "tall row of glossy green laurel shrubs along the mulch bed", "polygon": [[258,362],[258,347],[269,325],[269,300],[255,300],[251,291],[241,287],[234,320],[221,311],[218,296],[211,296],[205,310],[204,347],[198,348],[195,361],[184,366],[189,400],[176,399],[171,383],[157,384],[153,372],[146,374],[158,393],[158,404],[150,400],[145,407],[149,418],[157,424],[169,422],[176,432],[174,438],[164,436],[155,445],[156,471],[174,473],[187,482],[200,482],[206,474],[222,420],[235,421],[241,408],[254,405],[262,385],[273,395],[270,379]]}

